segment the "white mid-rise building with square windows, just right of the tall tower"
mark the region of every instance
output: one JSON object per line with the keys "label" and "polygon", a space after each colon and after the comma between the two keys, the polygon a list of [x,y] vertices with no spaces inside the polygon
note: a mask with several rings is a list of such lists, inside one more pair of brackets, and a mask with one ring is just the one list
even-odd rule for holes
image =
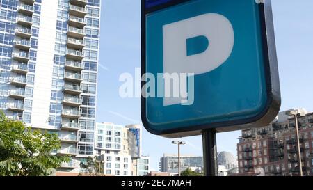
{"label": "white mid-rise building with square windows, just right of the tall tower", "polygon": [[150,158],[141,155],[141,126],[97,123],[96,155],[102,157],[105,175],[143,176],[150,172]]}

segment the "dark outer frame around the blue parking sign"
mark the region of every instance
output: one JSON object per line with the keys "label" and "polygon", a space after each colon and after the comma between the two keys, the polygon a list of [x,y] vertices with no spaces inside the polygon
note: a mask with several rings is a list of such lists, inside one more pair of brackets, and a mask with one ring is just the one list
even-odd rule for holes
{"label": "dark outer frame around the blue parking sign", "polygon": [[[149,10],[145,10],[145,0],[141,1],[141,76],[146,73],[146,14],[160,10],[162,8],[166,8],[168,6],[176,5],[177,3],[182,3],[184,1],[186,0],[165,3],[161,6],[150,8]],[[179,129],[156,130],[152,129],[149,125],[149,122],[147,121],[146,98],[141,96],[141,120],[148,132],[155,135],[164,136],[166,138],[180,138],[200,135],[206,129],[216,129],[216,132],[231,132],[241,129],[249,129],[251,127],[264,127],[275,119],[280,111],[281,95],[271,0],[264,0],[264,3],[259,3],[259,10],[262,14],[260,15],[262,24],[262,46],[265,61],[264,69],[266,77],[266,91],[268,97],[266,108],[253,118],[235,120],[231,122],[216,122],[209,125],[181,127]],[[145,82],[141,81],[141,88],[143,88],[144,85]]]}

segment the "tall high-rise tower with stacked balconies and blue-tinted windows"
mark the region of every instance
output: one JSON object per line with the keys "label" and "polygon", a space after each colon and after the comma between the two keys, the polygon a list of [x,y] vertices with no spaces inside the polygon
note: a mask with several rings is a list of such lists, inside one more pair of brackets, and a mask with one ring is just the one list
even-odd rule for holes
{"label": "tall high-rise tower with stacked balconies and blue-tinted windows", "polygon": [[0,1],[0,107],[58,133],[73,171],[93,155],[100,0]]}

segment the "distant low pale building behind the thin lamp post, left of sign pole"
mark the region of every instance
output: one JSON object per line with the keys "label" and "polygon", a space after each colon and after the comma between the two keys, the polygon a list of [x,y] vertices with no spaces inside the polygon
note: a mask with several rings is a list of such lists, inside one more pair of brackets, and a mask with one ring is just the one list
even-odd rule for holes
{"label": "distant low pale building behind the thin lamp post, left of sign pole", "polygon": [[[203,157],[195,157],[193,155],[181,155],[181,171],[187,168],[203,169]],[[160,159],[160,171],[168,173],[178,173],[178,155],[164,154]]]}

